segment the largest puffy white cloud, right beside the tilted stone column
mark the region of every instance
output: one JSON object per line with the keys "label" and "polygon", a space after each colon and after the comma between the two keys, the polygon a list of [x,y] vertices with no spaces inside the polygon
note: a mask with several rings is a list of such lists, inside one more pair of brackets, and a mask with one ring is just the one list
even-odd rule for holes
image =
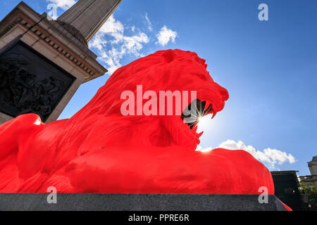
{"label": "largest puffy white cloud, right beside the tilted stone column", "polygon": [[[149,37],[143,32],[132,36],[125,35],[123,23],[111,15],[95,35],[89,46],[99,51],[99,60],[106,63],[106,68],[112,74],[122,65],[120,60],[127,55],[140,57],[143,44],[149,43]],[[135,28],[133,28],[135,30]]]}

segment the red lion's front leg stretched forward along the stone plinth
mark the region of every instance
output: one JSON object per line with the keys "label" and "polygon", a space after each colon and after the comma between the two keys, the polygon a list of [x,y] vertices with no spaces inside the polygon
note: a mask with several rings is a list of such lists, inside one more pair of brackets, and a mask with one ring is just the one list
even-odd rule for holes
{"label": "red lion's front leg stretched forward along the stone plinth", "polygon": [[180,148],[95,150],[69,163],[75,189],[106,193],[274,193],[268,169],[243,150],[210,153]]}

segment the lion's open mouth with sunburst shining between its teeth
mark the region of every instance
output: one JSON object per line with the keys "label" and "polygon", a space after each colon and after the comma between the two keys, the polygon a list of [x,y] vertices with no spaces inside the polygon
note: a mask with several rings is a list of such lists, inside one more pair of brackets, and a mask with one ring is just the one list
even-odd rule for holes
{"label": "lion's open mouth with sunburst shining between its teeth", "polygon": [[199,118],[211,112],[213,105],[206,108],[206,101],[196,99],[190,103],[181,115],[182,120],[192,129],[198,122]]}

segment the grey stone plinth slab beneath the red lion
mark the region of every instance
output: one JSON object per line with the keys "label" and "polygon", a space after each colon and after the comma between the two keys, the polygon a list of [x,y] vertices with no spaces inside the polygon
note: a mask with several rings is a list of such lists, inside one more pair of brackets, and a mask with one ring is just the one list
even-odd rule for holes
{"label": "grey stone plinth slab beneath the red lion", "polygon": [[58,193],[1,193],[1,211],[286,211],[275,195],[259,203],[259,195],[176,195]]}

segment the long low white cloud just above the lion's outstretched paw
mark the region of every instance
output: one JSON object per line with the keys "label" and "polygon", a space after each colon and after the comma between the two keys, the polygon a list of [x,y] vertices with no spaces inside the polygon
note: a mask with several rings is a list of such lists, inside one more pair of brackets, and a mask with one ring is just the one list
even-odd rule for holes
{"label": "long low white cloud just above the lion's outstretched paw", "polygon": [[277,149],[266,148],[263,151],[256,150],[253,146],[246,146],[242,141],[227,140],[220,143],[219,148],[226,148],[230,150],[245,150],[253,155],[256,160],[267,162],[271,169],[275,169],[275,165],[282,165],[284,162],[294,163],[296,160],[291,154],[282,152]]}

